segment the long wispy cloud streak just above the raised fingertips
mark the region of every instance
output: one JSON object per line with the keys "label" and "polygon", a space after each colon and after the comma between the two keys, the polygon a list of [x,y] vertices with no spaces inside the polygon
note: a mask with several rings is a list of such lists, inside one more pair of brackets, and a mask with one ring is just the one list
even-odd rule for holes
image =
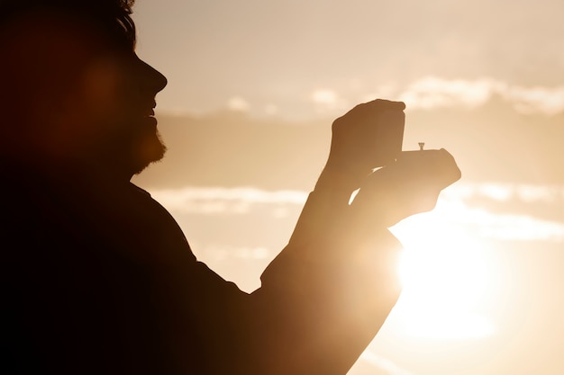
{"label": "long wispy cloud streak just above the raised fingertips", "polygon": [[[400,100],[406,103],[407,110],[436,110],[442,108],[475,109],[493,98],[501,98],[515,112],[520,114],[554,115],[564,112],[564,84],[559,85],[515,85],[492,77],[477,79],[444,78],[441,76],[422,76],[405,85],[399,81],[383,81],[378,85],[360,85],[350,81],[339,82],[332,87],[305,89],[305,97],[299,94],[276,97],[241,95],[230,97],[224,104],[233,112],[249,112],[255,115],[280,115],[302,113],[304,119],[311,115],[341,115],[357,103],[365,103],[376,98]],[[265,98],[267,99],[265,101]],[[160,107],[159,107],[160,108]],[[183,109],[181,106],[168,106],[172,114],[205,114],[213,111]],[[296,115],[297,118],[302,118]],[[293,116],[290,116],[293,117]]]}

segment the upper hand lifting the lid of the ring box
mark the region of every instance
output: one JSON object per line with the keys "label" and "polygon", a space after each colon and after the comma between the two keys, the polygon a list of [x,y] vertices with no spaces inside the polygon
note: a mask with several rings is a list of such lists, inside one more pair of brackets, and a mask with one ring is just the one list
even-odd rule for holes
{"label": "upper hand lifting the lid of the ring box", "polygon": [[[378,99],[362,103],[332,124],[332,145],[324,174],[338,175],[354,185],[366,177],[381,160],[389,157],[390,144],[401,151],[405,103]],[[386,118],[399,119],[390,124]],[[397,129],[401,126],[401,129]],[[394,129],[392,129],[392,127]],[[394,139],[390,139],[394,138]],[[358,188],[358,184],[352,190]]]}

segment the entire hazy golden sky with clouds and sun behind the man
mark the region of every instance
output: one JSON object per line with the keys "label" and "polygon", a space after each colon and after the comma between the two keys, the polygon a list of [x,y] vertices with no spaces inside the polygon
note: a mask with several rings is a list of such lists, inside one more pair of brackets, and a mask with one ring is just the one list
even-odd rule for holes
{"label": "entire hazy golden sky with clouds and sun behind the man", "polygon": [[135,178],[243,290],[285,245],[332,120],[407,105],[463,177],[392,228],[405,292],[351,375],[564,373],[564,3],[138,0],[169,152]]}

